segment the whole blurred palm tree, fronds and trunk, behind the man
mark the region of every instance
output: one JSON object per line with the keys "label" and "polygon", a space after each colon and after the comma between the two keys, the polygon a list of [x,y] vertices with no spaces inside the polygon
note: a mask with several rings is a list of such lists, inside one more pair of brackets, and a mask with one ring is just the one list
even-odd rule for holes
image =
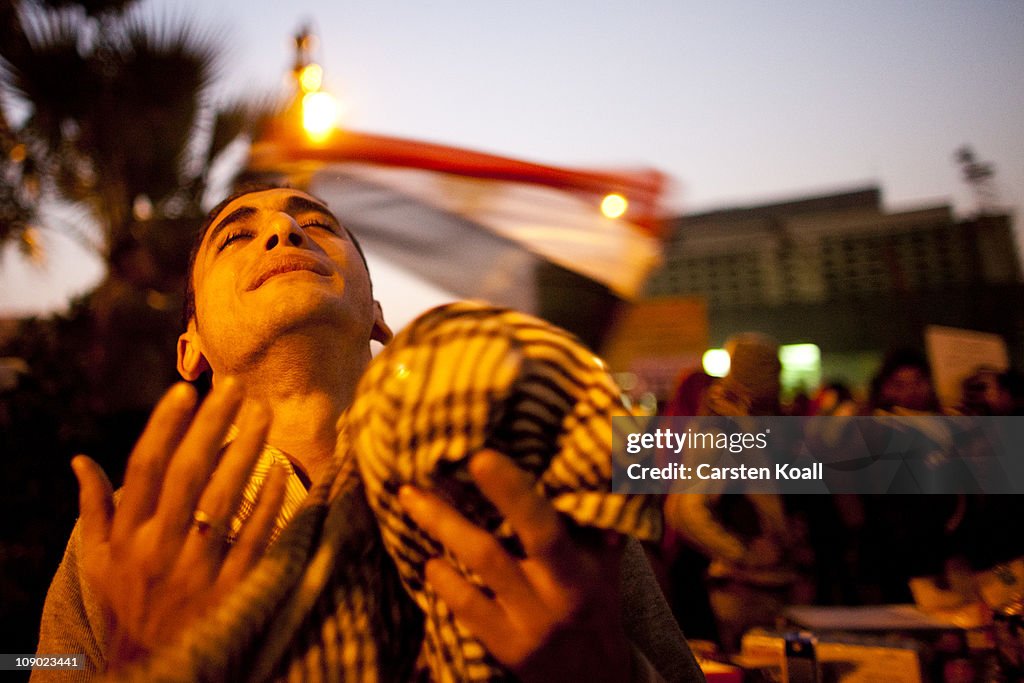
{"label": "whole blurred palm tree, fronds and trunk, behind the man", "polygon": [[[269,109],[216,106],[220,37],[147,23],[134,4],[0,0],[0,245],[31,252],[36,226],[98,228],[91,244],[108,274],[83,309],[93,318],[83,362],[99,411],[141,410],[174,379],[169,349],[210,167]],[[82,220],[46,224],[41,209],[58,202]]]}

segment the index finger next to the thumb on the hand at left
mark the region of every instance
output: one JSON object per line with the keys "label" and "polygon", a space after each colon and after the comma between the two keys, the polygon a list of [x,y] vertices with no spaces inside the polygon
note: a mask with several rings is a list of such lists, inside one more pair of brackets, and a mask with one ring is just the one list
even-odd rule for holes
{"label": "index finger next to the thumb on the hand at left", "polygon": [[179,382],[168,389],[132,450],[112,535],[118,538],[153,515],[174,450],[196,408],[196,389]]}

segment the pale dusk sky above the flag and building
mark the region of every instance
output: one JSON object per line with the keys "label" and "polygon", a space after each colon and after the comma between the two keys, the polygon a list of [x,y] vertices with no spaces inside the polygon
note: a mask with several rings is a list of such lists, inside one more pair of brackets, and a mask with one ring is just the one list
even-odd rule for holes
{"label": "pale dusk sky above the flag and building", "polygon": [[[674,180],[672,213],[866,184],[892,210],[968,213],[953,159],[964,144],[993,165],[1000,205],[1024,205],[1021,0],[285,4],[143,8],[223,42],[225,98],[283,90],[291,36],[308,22],[342,125],[562,166],[657,168]],[[46,236],[43,269],[0,259],[0,314],[59,306],[101,275]],[[375,279],[387,308],[388,278]]]}

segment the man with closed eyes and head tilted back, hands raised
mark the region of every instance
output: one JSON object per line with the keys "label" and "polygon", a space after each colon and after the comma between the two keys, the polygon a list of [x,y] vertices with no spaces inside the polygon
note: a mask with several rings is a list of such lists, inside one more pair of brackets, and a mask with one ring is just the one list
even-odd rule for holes
{"label": "man with closed eyes and head tilted back, hands raised", "polygon": [[[94,462],[73,461],[81,516],[47,596],[39,652],[84,652],[88,668],[47,676],[137,665],[207,618],[336,469],[339,421],[371,340],[391,338],[352,236],[291,188],[241,193],[211,212],[186,299],[178,370],[208,375],[212,390],[201,404],[186,383],[165,394],[117,496]],[[426,566],[501,665],[523,680],[700,678],[635,542],[581,545],[501,454],[476,454],[469,469],[523,539],[524,558],[428,492],[407,486],[399,500],[494,589],[470,585],[447,560]]]}

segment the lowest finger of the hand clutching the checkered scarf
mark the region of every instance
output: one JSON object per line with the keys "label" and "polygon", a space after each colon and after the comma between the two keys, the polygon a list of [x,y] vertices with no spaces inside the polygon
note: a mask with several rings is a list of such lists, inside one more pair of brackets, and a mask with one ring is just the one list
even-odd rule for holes
{"label": "lowest finger of the hand clutching the checkered scarf", "polygon": [[505,610],[469,583],[446,560],[427,562],[427,583],[433,587],[452,613],[480,639],[499,660],[506,656],[505,646],[514,642],[512,624]]}

